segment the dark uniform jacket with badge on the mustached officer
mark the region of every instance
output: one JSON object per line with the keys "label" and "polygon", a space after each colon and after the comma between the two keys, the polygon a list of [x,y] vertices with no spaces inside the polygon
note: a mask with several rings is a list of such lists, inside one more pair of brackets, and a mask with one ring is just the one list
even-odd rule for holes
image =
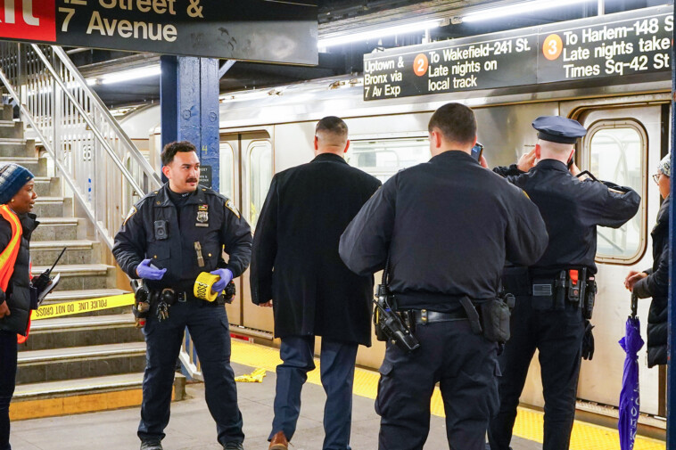
{"label": "dark uniform jacket with badge on the mustached officer", "polygon": [[[227,268],[239,276],[251,259],[251,228],[232,205],[218,192],[198,186],[180,210],[169,198],[169,184],[151,192],[136,203],[115,236],[112,254],[130,277],[138,278],[136,266],[144,258],[153,265],[166,268],[161,281],[148,281],[153,289],[173,288],[192,292],[201,272],[210,272],[219,265],[225,246],[229,256]],[[158,225],[166,223],[166,236]],[[157,225],[156,225],[157,224]],[[204,266],[198,265],[194,242],[202,246]],[[221,259],[222,261],[222,259]]]}

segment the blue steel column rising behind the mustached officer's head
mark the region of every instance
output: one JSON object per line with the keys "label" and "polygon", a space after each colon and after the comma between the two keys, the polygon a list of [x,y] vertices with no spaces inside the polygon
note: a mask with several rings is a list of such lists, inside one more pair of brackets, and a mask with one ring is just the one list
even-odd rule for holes
{"label": "blue steel column rising behind the mustached officer's head", "polygon": [[161,142],[190,141],[202,166],[211,166],[211,188],[219,187],[218,60],[161,57]]}

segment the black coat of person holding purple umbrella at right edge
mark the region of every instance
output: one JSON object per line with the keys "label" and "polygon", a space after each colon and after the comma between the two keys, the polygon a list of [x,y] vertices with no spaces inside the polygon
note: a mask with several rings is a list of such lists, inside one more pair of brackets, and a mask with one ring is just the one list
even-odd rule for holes
{"label": "black coat of person holding purple umbrella at right edge", "polygon": [[669,204],[667,197],[657,213],[657,223],[650,236],[653,238],[653,266],[646,278],[634,284],[639,299],[652,297],[647,315],[647,365],[666,364],[667,356],[667,305],[669,295]]}

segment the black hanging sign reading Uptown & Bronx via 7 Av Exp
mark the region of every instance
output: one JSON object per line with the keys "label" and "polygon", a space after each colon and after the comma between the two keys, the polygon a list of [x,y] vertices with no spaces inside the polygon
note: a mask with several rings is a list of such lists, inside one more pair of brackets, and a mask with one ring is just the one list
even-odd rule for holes
{"label": "black hanging sign reading Uptown & Bronx via 7 Av Exp", "polygon": [[364,56],[364,100],[671,71],[673,6]]}

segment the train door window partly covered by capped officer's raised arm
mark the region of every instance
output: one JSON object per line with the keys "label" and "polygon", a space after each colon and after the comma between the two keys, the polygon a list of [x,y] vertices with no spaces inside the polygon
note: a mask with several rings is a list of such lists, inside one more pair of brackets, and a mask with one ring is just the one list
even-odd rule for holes
{"label": "train door window partly covered by capped officer's raised arm", "polygon": [[[589,130],[589,169],[600,180],[629,186],[645,197],[646,133],[633,120],[604,120]],[[598,227],[597,259],[631,264],[643,253],[645,220],[637,214],[620,228]]]}

